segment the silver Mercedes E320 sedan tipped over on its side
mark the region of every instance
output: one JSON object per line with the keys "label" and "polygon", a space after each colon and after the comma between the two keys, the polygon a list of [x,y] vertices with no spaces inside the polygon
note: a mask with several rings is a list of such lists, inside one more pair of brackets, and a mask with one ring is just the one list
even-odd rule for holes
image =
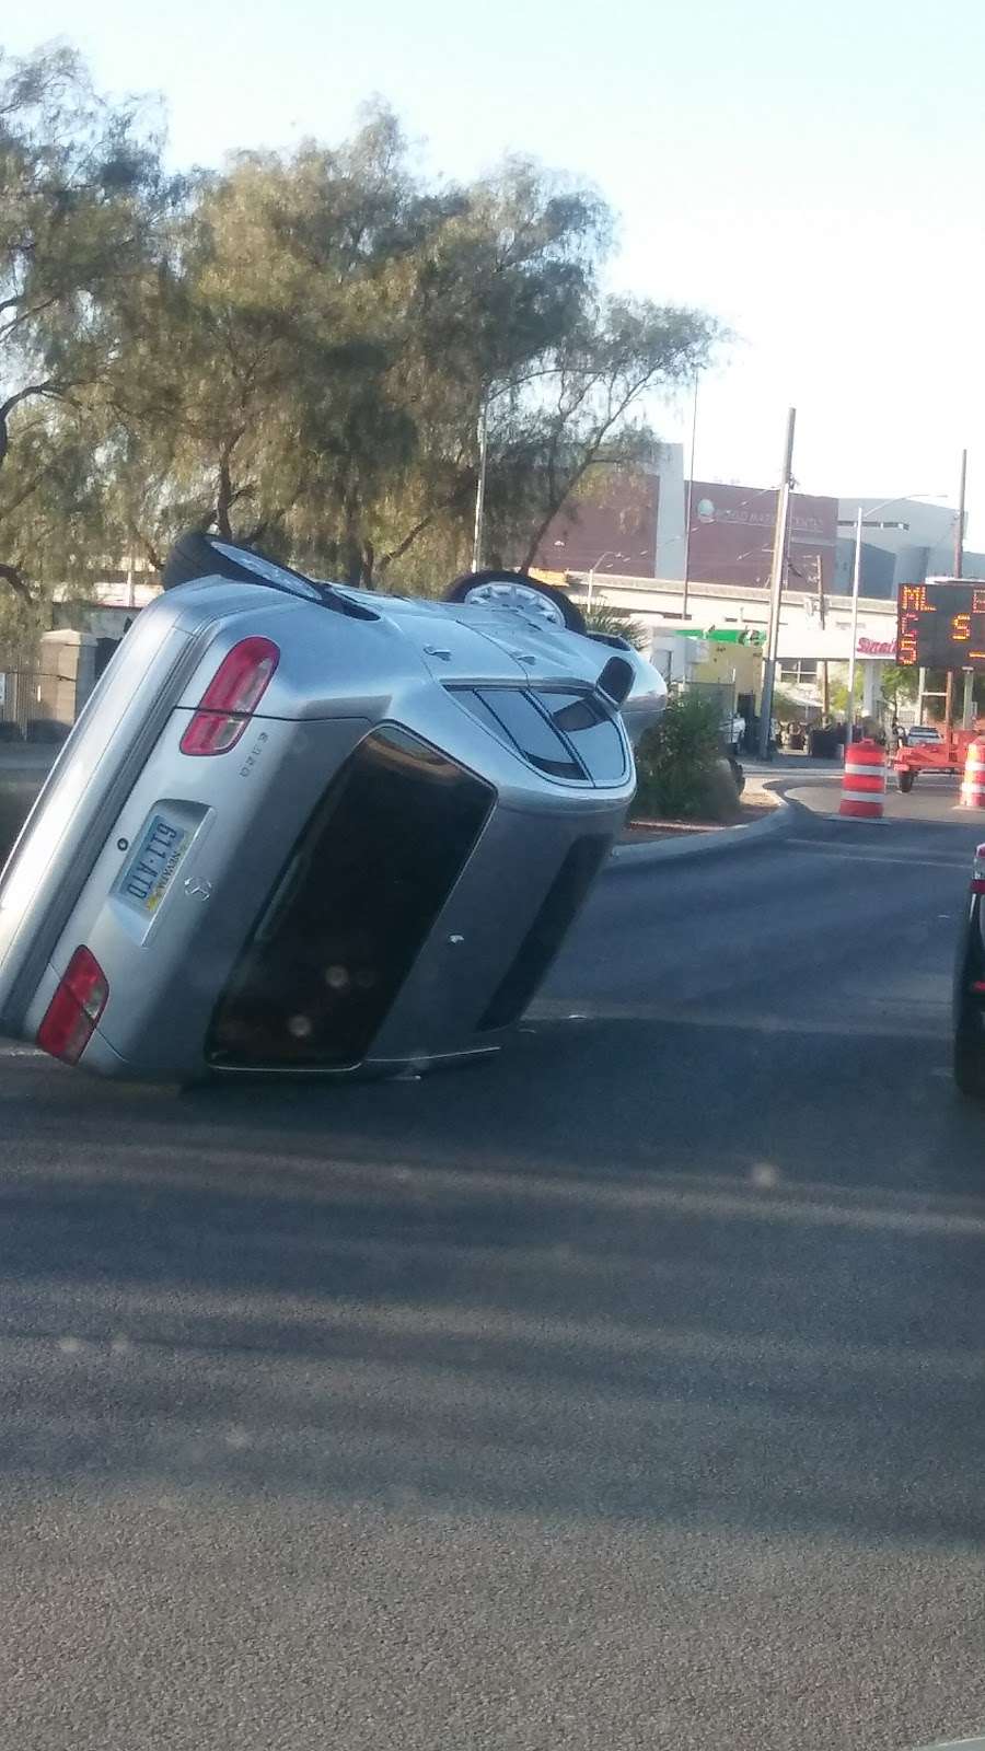
{"label": "silver Mercedes E320 sedan tipped over on its side", "polygon": [[0,1031],[107,1077],[494,1051],[663,678],[521,574],[405,601],[188,536],[0,876]]}

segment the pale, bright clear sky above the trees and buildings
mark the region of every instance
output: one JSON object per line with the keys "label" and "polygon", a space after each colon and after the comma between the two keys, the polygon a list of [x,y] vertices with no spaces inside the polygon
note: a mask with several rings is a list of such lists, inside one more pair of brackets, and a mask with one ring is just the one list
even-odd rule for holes
{"label": "pale, bright clear sky above the trees and buildings", "polygon": [[[379,93],[422,161],[529,152],[620,214],[619,285],[736,340],[699,397],[696,475],[769,483],[787,406],[808,492],[957,492],[985,546],[983,0],[21,0],[0,42],[65,37],[156,89],[170,152],[328,142]],[[687,410],[652,408],[666,438]]]}

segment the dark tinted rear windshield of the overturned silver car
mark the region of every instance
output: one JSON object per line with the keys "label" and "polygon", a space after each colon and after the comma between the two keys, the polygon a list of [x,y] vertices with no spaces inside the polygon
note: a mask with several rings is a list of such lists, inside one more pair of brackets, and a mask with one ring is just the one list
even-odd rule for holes
{"label": "dark tinted rear windshield of the overturned silver car", "polygon": [[384,725],[337,776],[221,998],[216,1065],[359,1063],[449,898],[494,790]]}

